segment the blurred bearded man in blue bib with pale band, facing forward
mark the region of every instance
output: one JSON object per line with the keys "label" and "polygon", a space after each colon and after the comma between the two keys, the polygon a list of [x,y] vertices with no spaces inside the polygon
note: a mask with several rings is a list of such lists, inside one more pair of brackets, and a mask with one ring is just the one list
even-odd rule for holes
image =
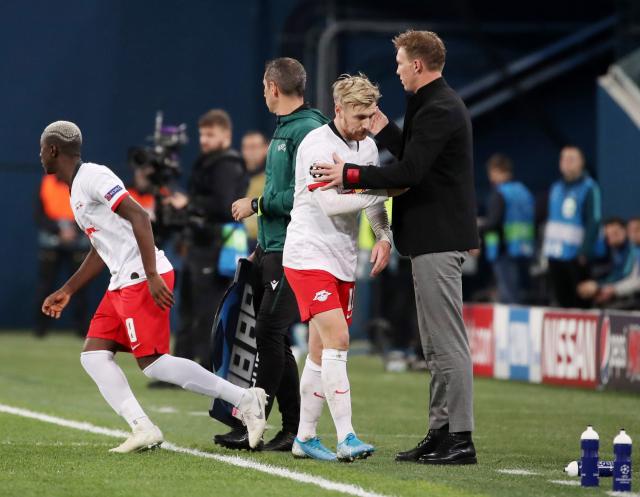
{"label": "blurred bearded man in blue bib with pale band, facing forward", "polygon": [[600,232],[600,188],[585,171],[582,151],[568,145],[560,152],[562,178],[551,185],[543,253],[549,260],[554,304],[587,307],[576,292],[589,277]]}

